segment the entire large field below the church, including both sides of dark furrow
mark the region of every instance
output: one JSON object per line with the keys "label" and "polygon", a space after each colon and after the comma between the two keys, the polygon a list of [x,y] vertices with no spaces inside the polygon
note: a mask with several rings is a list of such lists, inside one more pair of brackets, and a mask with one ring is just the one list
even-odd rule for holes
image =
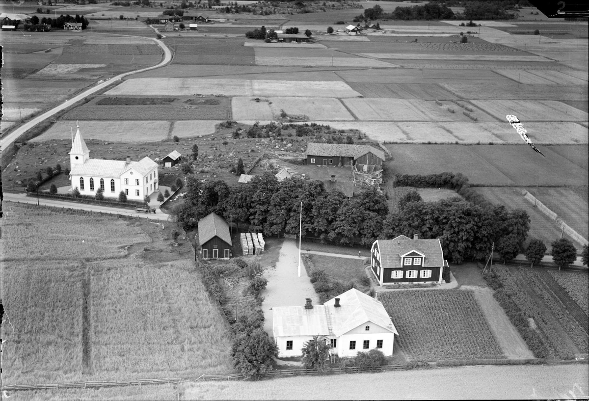
{"label": "entire large field below the church, including both sides of dark furrow", "polygon": [[4,213],[2,301],[15,330],[2,325],[3,384],[232,371],[227,322],[190,251],[176,255],[171,226],[18,204]]}

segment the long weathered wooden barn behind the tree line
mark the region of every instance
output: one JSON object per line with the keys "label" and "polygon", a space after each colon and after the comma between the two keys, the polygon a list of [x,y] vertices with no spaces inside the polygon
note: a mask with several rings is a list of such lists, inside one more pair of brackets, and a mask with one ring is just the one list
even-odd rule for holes
{"label": "long weathered wooden barn behind the tree line", "polygon": [[370,145],[307,143],[308,165],[353,165],[359,171],[378,171],[384,160],[385,153]]}

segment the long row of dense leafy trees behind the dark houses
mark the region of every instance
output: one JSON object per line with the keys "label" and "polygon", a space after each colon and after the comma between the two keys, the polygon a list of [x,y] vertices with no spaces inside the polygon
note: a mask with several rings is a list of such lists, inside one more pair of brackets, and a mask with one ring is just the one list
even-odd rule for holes
{"label": "long row of dense leafy trees behind the dark houses", "polygon": [[492,243],[497,246],[499,241],[511,241],[519,250],[530,229],[525,210],[475,204],[458,195],[424,202],[416,192],[410,193],[399,201],[398,211],[391,211],[377,188],[346,198],[340,191],[326,190],[322,181],[293,177],[280,182],[272,173],[235,187],[221,180],[188,177],[186,188],[185,202],[171,212],[185,230],[197,227],[198,220],[214,212],[231,218],[238,228],[247,224],[250,231],[266,236],[297,234],[302,208],[304,237],[369,247],[376,239],[419,234],[439,238],[444,256],[452,263],[484,260]]}

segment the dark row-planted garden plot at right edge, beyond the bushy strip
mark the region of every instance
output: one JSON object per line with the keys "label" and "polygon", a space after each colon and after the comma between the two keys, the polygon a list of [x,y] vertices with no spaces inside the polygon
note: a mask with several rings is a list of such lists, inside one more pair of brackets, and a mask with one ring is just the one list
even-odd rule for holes
{"label": "dark row-planted garden plot at right edge, beyond the bushy strip", "polygon": [[[558,291],[558,284],[545,270],[528,267],[495,265],[494,271],[526,317],[534,319],[544,345],[552,356],[573,359],[577,353],[587,353],[586,330],[574,317],[574,304],[567,304],[566,294]],[[552,281],[552,283],[551,283]],[[578,307],[578,306],[577,306]],[[582,313],[582,312],[581,312]],[[584,315],[587,319],[587,315]],[[583,324],[586,326],[586,320]]]}

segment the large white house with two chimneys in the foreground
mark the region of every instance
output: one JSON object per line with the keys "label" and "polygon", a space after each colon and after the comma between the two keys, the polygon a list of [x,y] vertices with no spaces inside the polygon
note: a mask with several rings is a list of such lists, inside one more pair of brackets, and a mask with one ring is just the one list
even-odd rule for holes
{"label": "large white house with two chimneys in the foreground", "polygon": [[399,335],[382,303],[356,289],[323,305],[307,299],[305,306],[273,307],[272,319],[279,357],[300,356],[303,344],[313,336],[329,341],[339,357],[371,349],[391,356],[395,334]]}

